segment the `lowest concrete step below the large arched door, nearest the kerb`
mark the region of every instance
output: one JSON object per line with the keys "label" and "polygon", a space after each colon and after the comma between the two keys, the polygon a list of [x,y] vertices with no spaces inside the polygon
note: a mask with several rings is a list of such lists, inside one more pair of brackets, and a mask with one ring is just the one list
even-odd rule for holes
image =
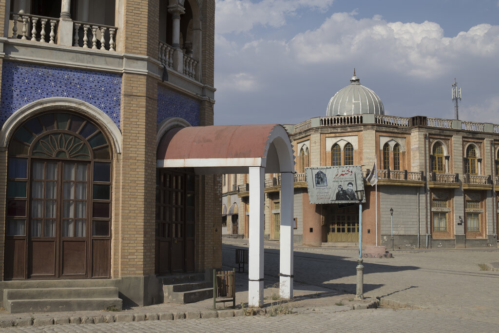
{"label": "lowest concrete step below the large arched door, nearest the kerb", "polygon": [[122,308],[119,298],[93,299],[48,299],[48,300],[8,300],[4,308],[8,313],[59,312],[59,311],[98,311],[109,306]]}

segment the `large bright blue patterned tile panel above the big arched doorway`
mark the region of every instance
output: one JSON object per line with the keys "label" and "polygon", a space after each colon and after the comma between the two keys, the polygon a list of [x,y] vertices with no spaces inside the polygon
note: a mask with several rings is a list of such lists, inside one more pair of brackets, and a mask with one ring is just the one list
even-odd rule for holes
{"label": "large bright blue patterned tile panel above the big arched doorway", "polygon": [[3,61],[0,123],[21,106],[46,97],[88,102],[120,127],[121,75]]}

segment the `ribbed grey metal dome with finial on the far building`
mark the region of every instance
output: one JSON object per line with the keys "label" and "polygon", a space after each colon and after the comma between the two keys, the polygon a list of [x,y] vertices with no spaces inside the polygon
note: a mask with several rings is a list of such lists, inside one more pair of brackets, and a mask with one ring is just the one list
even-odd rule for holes
{"label": "ribbed grey metal dome with finial on the far building", "polygon": [[360,79],[355,75],[350,79],[350,84],[334,94],[327,104],[327,116],[343,116],[352,114],[385,114],[381,99],[371,89],[360,84]]}

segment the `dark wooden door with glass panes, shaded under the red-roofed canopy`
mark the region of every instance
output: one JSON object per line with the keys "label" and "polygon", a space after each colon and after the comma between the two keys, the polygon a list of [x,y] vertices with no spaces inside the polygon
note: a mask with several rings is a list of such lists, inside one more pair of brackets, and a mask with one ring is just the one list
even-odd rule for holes
{"label": "dark wooden door with glass panes, shaded under the red-roofed canopy", "polygon": [[157,275],[194,272],[195,177],[188,169],[158,169]]}

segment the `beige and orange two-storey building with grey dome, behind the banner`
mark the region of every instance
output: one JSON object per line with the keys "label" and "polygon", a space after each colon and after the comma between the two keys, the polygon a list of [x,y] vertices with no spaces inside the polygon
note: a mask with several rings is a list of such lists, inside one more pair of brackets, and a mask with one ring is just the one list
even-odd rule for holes
{"label": "beige and orange two-storey building with grey dome, behind the banner", "polygon": [[[381,99],[354,73],[331,98],[325,117],[286,129],[296,161],[295,242],[345,246],[359,239],[357,205],[310,204],[306,167],[362,165],[367,176],[376,163],[377,186],[365,181],[363,244],[387,249],[498,246],[499,125],[386,115]],[[223,204],[244,207],[249,204],[245,175],[233,179],[238,183],[231,184],[232,191],[224,188]],[[267,175],[269,239],[279,238],[278,189],[279,178]],[[239,228],[228,234],[246,233],[246,212],[239,208],[238,214]]]}

